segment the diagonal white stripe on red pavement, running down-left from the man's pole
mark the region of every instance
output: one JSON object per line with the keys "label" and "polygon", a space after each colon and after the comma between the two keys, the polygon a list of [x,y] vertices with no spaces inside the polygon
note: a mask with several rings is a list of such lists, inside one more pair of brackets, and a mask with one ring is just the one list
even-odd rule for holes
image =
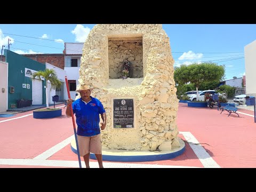
{"label": "diagonal white stripe on red pavement, running down-left from the man's pole", "polygon": [[[53,146],[52,148],[44,151],[44,153],[34,157],[33,159],[47,159],[49,157],[51,157],[52,155],[54,155],[55,153],[57,153],[59,150],[61,150],[62,148],[66,147],[68,144],[71,143],[71,140],[74,138],[75,136],[72,135],[71,137],[65,139],[64,141],[61,141],[60,143],[58,143],[57,145]],[[70,149],[71,150],[71,149]]]}

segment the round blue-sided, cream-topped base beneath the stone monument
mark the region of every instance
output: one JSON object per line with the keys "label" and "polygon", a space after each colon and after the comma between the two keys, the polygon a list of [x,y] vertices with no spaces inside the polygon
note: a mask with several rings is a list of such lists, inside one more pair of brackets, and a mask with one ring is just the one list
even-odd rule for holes
{"label": "round blue-sided, cream-topped base beneath the stone monument", "polygon": [[[163,161],[182,155],[185,151],[185,142],[179,139],[180,147],[172,151],[132,151],[132,150],[102,150],[103,161],[110,162],[152,162]],[[71,141],[71,150],[77,154],[75,139]],[[128,152],[128,153],[127,153]],[[122,154],[122,155],[121,155]],[[127,154],[127,155],[124,155]],[[130,155],[128,155],[130,154]],[[94,154],[90,154],[91,159],[97,160]]]}

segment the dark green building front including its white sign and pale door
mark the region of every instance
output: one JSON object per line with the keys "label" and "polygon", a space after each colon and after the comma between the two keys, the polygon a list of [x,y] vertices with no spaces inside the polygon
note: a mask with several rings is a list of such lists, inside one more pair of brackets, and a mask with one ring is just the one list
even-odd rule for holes
{"label": "dark green building front including its white sign and pale door", "polygon": [[20,107],[21,101],[31,102],[31,105],[45,104],[44,79],[31,80],[33,73],[45,70],[45,64],[10,50],[4,50],[4,55],[8,63],[7,109]]}

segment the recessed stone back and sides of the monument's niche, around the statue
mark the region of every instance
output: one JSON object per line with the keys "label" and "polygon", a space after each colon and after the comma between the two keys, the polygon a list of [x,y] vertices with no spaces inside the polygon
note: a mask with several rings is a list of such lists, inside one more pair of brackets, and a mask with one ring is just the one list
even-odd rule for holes
{"label": "recessed stone back and sides of the monument's niche, around the statue", "polygon": [[143,77],[142,37],[111,38],[108,41],[109,78],[122,76],[122,62],[128,58],[132,62],[132,78]]}

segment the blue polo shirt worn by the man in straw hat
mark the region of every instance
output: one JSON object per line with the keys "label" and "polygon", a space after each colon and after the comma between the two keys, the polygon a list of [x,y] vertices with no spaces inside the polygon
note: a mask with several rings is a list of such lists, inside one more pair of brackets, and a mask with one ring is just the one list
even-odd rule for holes
{"label": "blue polo shirt worn by the man in straw hat", "polygon": [[105,109],[99,99],[93,98],[85,104],[82,98],[72,103],[73,113],[76,114],[77,135],[91,137],[100,134],[100,114],[105,113]]}

